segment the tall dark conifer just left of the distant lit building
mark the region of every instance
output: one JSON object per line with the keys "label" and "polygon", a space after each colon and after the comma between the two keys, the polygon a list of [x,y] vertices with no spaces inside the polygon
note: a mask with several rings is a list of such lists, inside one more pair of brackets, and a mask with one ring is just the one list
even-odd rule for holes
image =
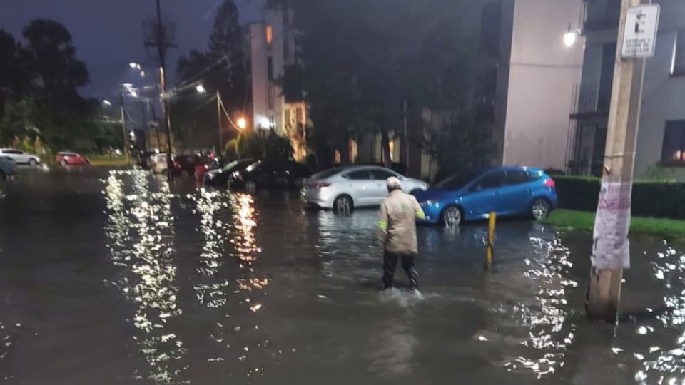
{"label": "tall dark conifer just left of the distant lit building", "polygon": [[[181,95],[173,101],[171,111],[176,122],[177,138],[196,148],[218,141],[216,103],[210,98],[220,91],[229,113],[240,111],[245,102],[243,71],[243,33],[238,21],[238,7],[225,0],[219,7],[209,36],[207,51],[193,50],[178,61],[178,78],[183,86],[201,83],[209,91],[205,98]],[[228,126],[222,121],[223,127]],[[233,130],[227,130],[227,138]],[[223,147],[223,143],[222,143]]]}

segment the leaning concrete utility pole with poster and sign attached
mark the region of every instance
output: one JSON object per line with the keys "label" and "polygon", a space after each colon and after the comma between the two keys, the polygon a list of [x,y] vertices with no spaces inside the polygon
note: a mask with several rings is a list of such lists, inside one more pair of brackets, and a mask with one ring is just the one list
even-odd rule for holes
{"label": "leaning concrete utility pole with poster and sign attached", "polygon": [[590,319],[607,322],[615,322],[617,319],[623,268],[629,264],[627,235],[630,227],[631,186],[644,58],[621,58],[621,43],[624,40],[628,9],[640,4],[640,0],[621,0],[602,191],[595,218],[592,270],[585,304]]}

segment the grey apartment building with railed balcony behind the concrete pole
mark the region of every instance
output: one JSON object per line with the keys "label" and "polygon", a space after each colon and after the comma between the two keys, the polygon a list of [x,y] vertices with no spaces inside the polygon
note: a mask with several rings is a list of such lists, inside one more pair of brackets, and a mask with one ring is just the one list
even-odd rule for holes
{"label": "grey apartment building with railed balcony behind the concrete pole", "polygon": [[[584,0],[585,55],[574,90],[567,148],[572,173],[599,175],[612,96],[620,0]],[[661,6],[656,53],[646,59],[635,175],[685,180],[685,1]]]}

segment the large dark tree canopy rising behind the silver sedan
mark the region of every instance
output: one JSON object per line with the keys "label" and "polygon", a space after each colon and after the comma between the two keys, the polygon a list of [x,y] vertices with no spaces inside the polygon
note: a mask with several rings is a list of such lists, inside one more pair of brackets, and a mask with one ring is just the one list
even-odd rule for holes
{"label": "large dark tree canopy rising behind the silver sedan", "polygon": [[454,1],[290,4],[302,33],[313,132],[325,138],[312,140],[318,146],[345,148],[345,154],[348,140],[380,134],[388,164],[390,132],[402,132],[405,102],[407,141],[417,145],[426,141],[425,109],[459,116],[470,110],[474,55],[460,37],[461,9]]}

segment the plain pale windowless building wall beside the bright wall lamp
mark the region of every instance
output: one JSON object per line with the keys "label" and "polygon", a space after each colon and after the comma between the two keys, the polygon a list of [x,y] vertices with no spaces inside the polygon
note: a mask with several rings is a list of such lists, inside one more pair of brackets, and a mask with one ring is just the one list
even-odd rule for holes
{"label": "plain pale windowless building wall beside the bright wall lamp", "polygon": [[509,62],[504,165],[565,167],[573,87],[580,82],[583,39],[563,36],[576,25],[581,0],[517,0]]}

